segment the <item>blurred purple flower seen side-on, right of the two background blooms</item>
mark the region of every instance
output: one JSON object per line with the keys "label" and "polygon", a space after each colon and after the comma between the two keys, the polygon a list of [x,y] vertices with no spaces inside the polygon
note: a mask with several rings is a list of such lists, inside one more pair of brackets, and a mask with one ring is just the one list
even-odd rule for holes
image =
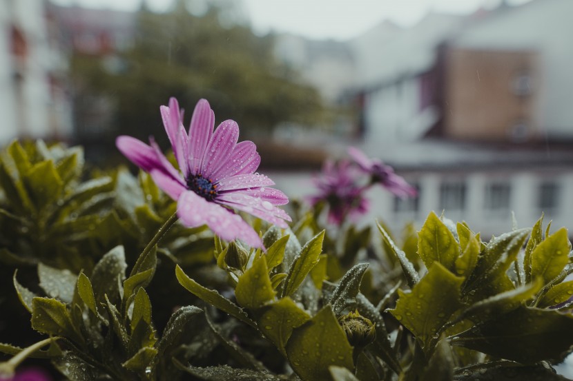
{"label": "blurred purple flower seen side-on, right of the two background blooms", "polygon": [[409,185],[402,176],[394,173],[394,169],[376,158],[368,158],[364,152],[355,147],[349,147],[348,153],[358,167],[371,176],[371,183],[380,184],[398,197],[416,197],[418,191]]}

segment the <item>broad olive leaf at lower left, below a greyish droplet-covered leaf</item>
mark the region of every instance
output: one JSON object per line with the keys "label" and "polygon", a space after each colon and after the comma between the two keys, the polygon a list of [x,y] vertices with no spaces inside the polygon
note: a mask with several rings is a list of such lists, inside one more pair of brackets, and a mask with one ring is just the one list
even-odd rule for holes
{"label": "broad olive leaf at lower left, below a greyish droplet-covered leaf", "polygon": [[84,342],[72,323],[66,305],[56,299],[32,299],[32,328],[48,335],[64,336],[76,343]]}

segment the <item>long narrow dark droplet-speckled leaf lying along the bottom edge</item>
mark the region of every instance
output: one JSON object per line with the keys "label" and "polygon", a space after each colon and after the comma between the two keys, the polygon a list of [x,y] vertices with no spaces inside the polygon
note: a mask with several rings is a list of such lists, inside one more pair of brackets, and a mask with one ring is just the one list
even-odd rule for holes
{"label": "long narrow dark droplet-speckled leaf lying along the bottom edge", "polygon": [[207,381],[281,381],[283,378],[273,375],[268,371],[253,371],[251,369],[237,369],[231,368],[229,365],[219,365],[217,367],[187,367],[181,362],[173,359],[175,366],[188,374],[193,375],[195,378]]}

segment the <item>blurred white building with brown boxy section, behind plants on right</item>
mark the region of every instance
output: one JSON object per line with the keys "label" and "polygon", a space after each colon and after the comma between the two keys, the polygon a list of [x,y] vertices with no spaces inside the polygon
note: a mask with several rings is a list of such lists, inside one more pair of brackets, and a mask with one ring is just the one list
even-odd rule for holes
{"label": "blurred white building with brown boxy section, behind plants on right", "polygon": [[[354,144],[420,190],[409,200],[373,190],[370,219],[399,229],[445,211],[485,237],[511,229],[512,211],[521,226],[542,212],[573,226],[572,14],[570,0],[502,3],[467,17],[430,13],[407,29],[385,21],[347,42],[353,84],[333,98],[359,100]],[[273,178],[293,194],[312,189]]]}

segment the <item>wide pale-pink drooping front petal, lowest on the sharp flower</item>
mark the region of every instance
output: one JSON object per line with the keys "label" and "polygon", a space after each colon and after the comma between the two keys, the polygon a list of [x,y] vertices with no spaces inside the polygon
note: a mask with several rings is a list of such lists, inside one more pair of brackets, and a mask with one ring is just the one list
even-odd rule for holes
{"label": "wide pale-pink drooping front petal, lowest on the sharp flower", "polygon": [[206,224],[224,240],[239,238],[251,247],[263,247],[260,236],[241,216],[197,196],[194,192],[181,194],[177,201],[177,216],[188,227]]}

